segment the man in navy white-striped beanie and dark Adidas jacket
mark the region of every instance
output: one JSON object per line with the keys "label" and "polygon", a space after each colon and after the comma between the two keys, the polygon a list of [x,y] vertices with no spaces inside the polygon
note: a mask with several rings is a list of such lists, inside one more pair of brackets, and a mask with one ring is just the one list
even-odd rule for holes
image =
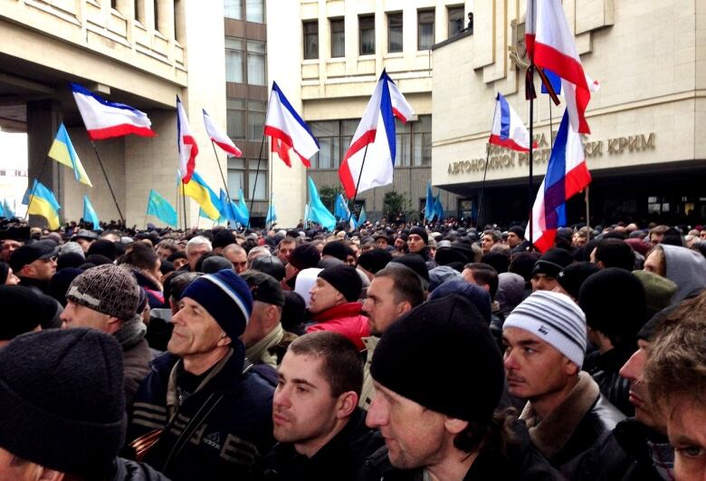
{"label": "man in navy white-striped beanie and dark Adidas jacket", "polygon": [[248,284],[224,269],[186,287],[168,352],[135,399],[128,440],[163,429],[145,461],[173,480],[248,478],[272,446],[274,386],[245,359]]}

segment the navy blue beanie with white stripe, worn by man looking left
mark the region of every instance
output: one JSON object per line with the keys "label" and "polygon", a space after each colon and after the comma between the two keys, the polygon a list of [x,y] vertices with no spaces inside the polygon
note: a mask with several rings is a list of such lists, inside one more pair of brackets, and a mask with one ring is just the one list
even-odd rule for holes
{"label": "navy blue beanie with white stripe, worn by man looking left", "polygon": [[245,332],[253,312],[253,294],[233,269],[202,275],[186,287],[181,297],[204,306],[233,342]]}

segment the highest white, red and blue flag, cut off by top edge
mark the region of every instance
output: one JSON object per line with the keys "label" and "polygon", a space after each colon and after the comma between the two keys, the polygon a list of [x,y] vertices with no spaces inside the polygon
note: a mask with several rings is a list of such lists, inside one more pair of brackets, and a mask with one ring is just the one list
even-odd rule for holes
{"label": "highest white, red and blue flag, cut off by top edge", "polygon": [[561,1],[528,0],[525,28],[528,56],[561,78],[572,127],[579,133],[590,133],[586,108],[591,92]]}

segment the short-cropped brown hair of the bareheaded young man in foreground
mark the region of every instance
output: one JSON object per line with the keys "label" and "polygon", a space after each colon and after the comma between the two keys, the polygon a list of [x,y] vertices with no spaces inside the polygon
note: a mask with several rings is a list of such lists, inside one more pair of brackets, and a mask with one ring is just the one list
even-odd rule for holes
{"label": "short-cropped brown hair of the bareheaded young man in foreground", "polygon": [[310,332],[291,342],[288,351],[321,359],[321,375],[331,388],[331,396],[363,389],[363,362],[355,344],[338,332]]}

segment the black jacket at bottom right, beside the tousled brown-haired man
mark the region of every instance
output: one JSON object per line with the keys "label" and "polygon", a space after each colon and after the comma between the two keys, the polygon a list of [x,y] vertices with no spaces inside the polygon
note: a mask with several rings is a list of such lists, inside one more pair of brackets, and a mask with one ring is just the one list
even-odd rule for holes
{"label": "black jacket at bottom right, beside the tousled brown-haired man", "polygon": [[648,439],[667,442],[665,436],[634,418],[625,419],[561,472],[574,481],[661,481],[650,457]]}

